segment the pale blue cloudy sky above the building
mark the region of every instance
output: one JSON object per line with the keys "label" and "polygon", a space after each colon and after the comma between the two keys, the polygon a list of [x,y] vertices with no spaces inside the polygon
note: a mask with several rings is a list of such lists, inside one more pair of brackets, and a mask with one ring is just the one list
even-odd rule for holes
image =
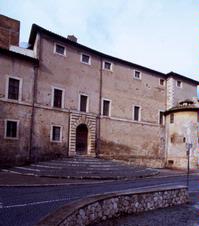
{"label": "pale blue cloudy sky above the building", "polygon": [[199,80],[198,0],[0,0],[21,21],[27,42],[36,23],[116,57]]}

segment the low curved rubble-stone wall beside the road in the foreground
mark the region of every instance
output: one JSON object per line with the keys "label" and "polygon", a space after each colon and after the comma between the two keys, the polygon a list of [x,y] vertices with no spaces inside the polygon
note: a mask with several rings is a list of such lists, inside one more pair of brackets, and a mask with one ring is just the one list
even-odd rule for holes
{"label": "low curved rubble-stone wall beside the road in the foreground", "polygon": [[37,226],[91,225],[123,214],[141,213],[188,201],[187,187],[184,186],[107,193],[69,203],[47,216]]}

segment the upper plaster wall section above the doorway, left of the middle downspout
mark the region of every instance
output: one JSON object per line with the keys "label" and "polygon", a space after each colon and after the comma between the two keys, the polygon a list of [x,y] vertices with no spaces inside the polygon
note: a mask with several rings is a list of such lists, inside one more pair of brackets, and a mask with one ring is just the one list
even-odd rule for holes
{"label": "upper plaster wall section above the doorway, left of the middle downspout", "polygon": [[42,38],[37,103],[51,106],[52,86],[55,86],[65,90],[66,109],[78,110],[79,93],[85,93],[89,96],[89,112],[97,114],[100,87],[99,58],[91,55],[91,65],[83,64],[80,62],[82,51],[65,46],[66,57],[60,56],[54,53],[54,41]]}

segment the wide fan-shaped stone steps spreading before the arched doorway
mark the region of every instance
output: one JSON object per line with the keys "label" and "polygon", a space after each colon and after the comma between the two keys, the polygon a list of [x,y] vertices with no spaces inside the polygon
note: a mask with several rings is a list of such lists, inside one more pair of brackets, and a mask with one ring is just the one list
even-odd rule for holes
{"label": "wide fan-shaped stone steps spreading before the arched doorway", "polygon": [[133,179],[157,175],[151,168],[129,166],[116,161],[99,158],[76,156],[23,167],[13,167],[3,171],[42,177],[67,179]]}

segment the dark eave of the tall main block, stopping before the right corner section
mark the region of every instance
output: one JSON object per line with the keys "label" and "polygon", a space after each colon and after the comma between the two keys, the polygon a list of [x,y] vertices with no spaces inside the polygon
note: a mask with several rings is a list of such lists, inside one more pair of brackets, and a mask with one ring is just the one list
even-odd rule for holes
{"label": "dark eave of the tall main block, stopping before the right corner section", "polygon": [[132,62],[129,62],[129,61],[126,61],[126,60],[123,60],[123,59],[120,59],[120,58],[111,56],[111,55],[107,55],[107,54],[102,53],[102,52],[100,52],[100,51],[91,49],[91,48],[89,48],[89,47],[87,47],[87,46],[84,46],[84,45],[79,44],[79,43],[77,43],[77,42],[73,42],[73,41],[69,40],[68,38],[65,38],[65,37],[60,36],[60,35],[58,35],[58,34],[56,34],[56,33],[53,33],[53,32],[51,32],[51,31],[49,31],[49,30],[47,30],[47,29],[45,29],[45,28],[42,28],[42,27],[40,27],[40,26],[37,25],[37,24],[33,24],[33,25],[32,25],[31,32],[30,32],[29,44],[31,44],[32,47],[33,47],[33,44],[34,44],[34,42],[35,42],[36,34],[37,34],[37,33],[43,33],[43,34],[45,34],[45,35],[47,35],[47,36],[51,36],[51,37],[53,37],[53,38],[55,38],[55,39],[60,40],[61,42],[65,42],[65,43],[70,44],[70,45],[72,45],[72,46],[74,46],[74,47],[78,47],[78,48],[84,49],[84,50],[86,50],[86,51],[92,52],[93,54],[96,54],[96,55],[98,55],[98,56],[101,56],[101,57],[103,57],[103,58],[105,58],[105,59],[107,59],[107,60],[109,59],[109,60],[112,60],[112,61],[117,61],[117,62],[126,64],[126,65],[129,65],[129,66],[131,66],[131,67],[135,67],[135,68],[137,68],[137,69],[142,69],[142,70],[144,70],[144,71],[149,71],[149,72],[151,72],[151,73],[155,73],[155,74],[158,74],[158,75],[160,75],[160,76],[162,76],[162,77],[167,78],[167,76],[166,76],[165,73],[162,73],[162,72],[159,72],[159,71],[150,69],[150,68],[148,68],[148,67],[144,67],[144,66],[141,66],[141,65],[138,65],[138,64],[135,64],[135,63],[132,63]]}

